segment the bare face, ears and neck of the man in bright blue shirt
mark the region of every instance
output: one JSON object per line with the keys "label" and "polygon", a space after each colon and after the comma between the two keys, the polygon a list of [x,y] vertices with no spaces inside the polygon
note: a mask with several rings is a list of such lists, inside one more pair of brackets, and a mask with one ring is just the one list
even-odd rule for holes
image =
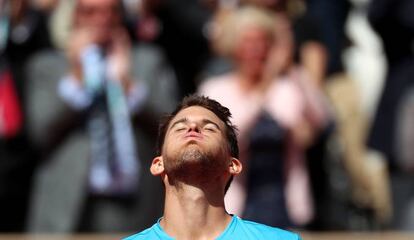
{"label": "bare face, ears and neck of the man in bright blue shirt", "polygon": [[231,221],[224,189],[242,166],[231,157],[224,123],[210,110],[191,106],[171,121],[151,173],[165,185],[161,226],[176,239],[214,239]]}

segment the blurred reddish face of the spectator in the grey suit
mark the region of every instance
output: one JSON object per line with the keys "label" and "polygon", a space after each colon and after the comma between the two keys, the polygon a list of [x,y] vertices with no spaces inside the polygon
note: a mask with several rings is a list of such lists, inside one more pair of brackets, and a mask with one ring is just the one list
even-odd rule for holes
{"label": "blurred reddish face of the spectator in the grey suit", "polygon": [[108,42],[119,25],[119,0],[78,0],[75,27],[90,31],[98,43]]}

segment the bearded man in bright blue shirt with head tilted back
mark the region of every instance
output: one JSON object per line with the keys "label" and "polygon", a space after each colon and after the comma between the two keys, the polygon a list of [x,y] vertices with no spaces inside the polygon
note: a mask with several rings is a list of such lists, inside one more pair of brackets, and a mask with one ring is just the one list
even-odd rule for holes
{"label": "bearded man in bright blue shirt with head tilted back", "polygon": [[297,234],[226,212],[224,195],[242,170],[231,113],[217,101],[189,96],[159,128],[150,171],[165,186],[164,216],[138,239],[300,239]]}

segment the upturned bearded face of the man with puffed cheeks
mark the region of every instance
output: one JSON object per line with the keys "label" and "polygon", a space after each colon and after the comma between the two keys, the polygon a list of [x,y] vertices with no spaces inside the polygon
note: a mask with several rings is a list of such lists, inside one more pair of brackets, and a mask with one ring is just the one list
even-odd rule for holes
{"label": "upturned bearded face of the man with puffed cheeks", "polygon": [[181,110],[171,120],[165,136],[165,172],[185,175],[201,170],[205,174],[222,174],[231,159],[225,128],[208,109],[192,106]]}

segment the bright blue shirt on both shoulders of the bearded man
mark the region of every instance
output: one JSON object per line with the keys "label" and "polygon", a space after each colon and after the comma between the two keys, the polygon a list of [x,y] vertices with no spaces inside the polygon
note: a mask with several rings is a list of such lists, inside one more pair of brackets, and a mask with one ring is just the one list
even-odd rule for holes
{"label": "bright blue shirt on both shoulders of the bearded man", "polygon": [[[160,220],[152,227],[124,238],[123,240],[173,240],[161,228]],[[288,232],[279,228],[269,227],[264,224],[243,220],[233,216],[230,224],[216,240],[252,240],[252,239],[272,239],[272,240],[300,240],[298,234]]]}

